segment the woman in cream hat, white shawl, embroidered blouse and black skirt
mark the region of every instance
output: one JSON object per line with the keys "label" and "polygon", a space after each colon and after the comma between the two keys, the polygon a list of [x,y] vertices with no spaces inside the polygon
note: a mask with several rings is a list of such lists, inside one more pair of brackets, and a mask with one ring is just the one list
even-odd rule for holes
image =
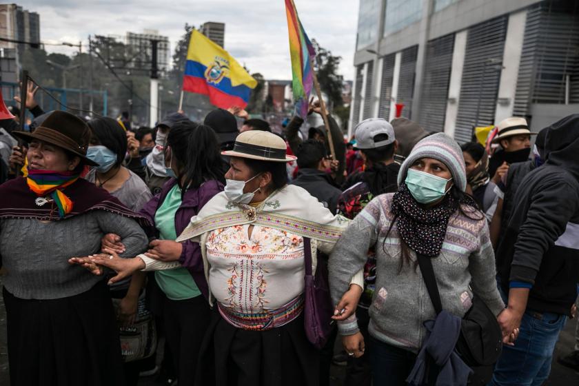
{"label": "woman in cream hat, white shawl, embroidered blouse and black skirt", "polygon": [[[285,163],[296,157],[285,150],[285,141],[270,132],[239,134],[234,148],[222,152],[230,156],[225,192],[177,238],[201,245],[199,269],[219,311],[200,354],[199,385],[318,384],[318,350],[305,331],[305,266],[311,258],[316,270],[322,263],[316,250],[331,252],[347,220],[287,185]],[[143,270],[171,266],[137,258]],[[101,263],[130,274],[131,264],[121,259]],[[361,277],[358,282],[361,287]]]}

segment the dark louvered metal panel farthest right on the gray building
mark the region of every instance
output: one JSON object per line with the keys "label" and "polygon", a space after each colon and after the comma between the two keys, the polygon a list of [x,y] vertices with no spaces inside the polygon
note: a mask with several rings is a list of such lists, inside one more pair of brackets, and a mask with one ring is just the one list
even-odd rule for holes
{"label": "dark louvered metal panel farthest right on the gray building", "polygon": [[527,10],[514,114],[529,115],[531,103],[579,102],[579,3],[542,1]]}

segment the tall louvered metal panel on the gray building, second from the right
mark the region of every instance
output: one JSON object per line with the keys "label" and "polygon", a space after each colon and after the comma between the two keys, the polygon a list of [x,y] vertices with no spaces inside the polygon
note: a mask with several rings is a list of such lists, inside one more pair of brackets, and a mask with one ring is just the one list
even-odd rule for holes
{"label": "tall louvered metal panel on the gray building, second from the right", "polygon": [[475,126],[494,123],[506,34],[506,16],[487,20],[468,30],[454,133],[458,142],[471,141]]}

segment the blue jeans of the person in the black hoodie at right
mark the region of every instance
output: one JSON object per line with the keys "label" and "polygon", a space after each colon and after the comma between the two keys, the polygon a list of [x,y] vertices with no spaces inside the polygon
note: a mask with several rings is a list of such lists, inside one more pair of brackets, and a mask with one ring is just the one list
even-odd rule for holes
{"label": "blue jeans of the person in the black hoodie at right", "polygon": [[493,378],[487,386],[540,386],[549,378],[553,350],[567,316],[527,310],[514,346],[502,346]]}

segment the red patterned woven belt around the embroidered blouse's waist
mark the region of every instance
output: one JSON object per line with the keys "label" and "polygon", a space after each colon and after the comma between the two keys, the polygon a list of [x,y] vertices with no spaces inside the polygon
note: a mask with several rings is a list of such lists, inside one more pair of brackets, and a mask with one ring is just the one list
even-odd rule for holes
{"label": "red patterned woven belt around the embroidered blouse's waist", "polygon": [[281,327],[290,323],[300,316],[303,311],[303,296],[292,299],[278,309],[273,309],[261,314],[244,314],[243,312],[234,312],[228,307],[217,303],[219,313],[227,323],[241,329],[253,331],[265,331],[275,327]]}

